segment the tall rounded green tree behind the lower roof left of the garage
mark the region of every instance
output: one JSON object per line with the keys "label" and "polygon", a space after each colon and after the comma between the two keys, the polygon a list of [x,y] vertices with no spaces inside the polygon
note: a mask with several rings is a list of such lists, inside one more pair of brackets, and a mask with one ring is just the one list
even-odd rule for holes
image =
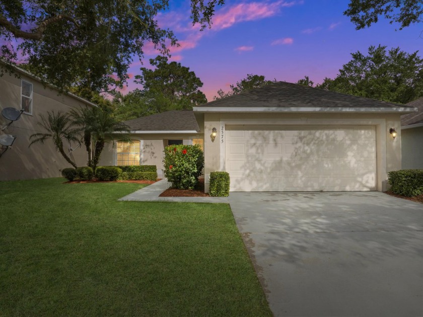
{"label": "tall rounded green tree behind the lower roof left of the garage", "polygon": [[[154,100],[168,100],[173,109],[191,109],[193,105],[206,103],[205,95],[199,90],[203,83],[179,62],[168,62],[166,56],[150,59],[154,70],[141,68],[142,75],[136,75],[136,83],[143,85],[145,96]],[[166,102],[165,102],[166,103]],[[161,109],[156,109],[161,112]]]}

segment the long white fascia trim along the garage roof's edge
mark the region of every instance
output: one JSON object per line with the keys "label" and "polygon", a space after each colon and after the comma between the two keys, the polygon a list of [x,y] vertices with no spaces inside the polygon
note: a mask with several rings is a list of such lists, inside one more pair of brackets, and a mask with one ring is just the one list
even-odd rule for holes
{"label": "long white fascia trim along the garage roof's edge", "polygon": [[194,112],[416,112],[410,107],[193,107]]}

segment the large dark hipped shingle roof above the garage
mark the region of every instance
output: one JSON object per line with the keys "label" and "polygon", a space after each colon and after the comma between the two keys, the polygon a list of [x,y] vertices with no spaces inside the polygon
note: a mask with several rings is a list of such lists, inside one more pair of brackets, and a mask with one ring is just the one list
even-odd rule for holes
{"label": "large dark hipped shingle roof above the garage", "polygon": [[277,82],[261,88],[214,100],[196,107],[401,107],[407,106],[364,97],[356,97],[306,87],[287,82]]}

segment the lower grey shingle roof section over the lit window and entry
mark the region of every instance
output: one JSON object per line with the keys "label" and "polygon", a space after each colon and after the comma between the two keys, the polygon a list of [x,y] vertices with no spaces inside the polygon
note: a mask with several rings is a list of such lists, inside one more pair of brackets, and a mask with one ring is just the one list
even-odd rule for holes
{"label": "lower grey shingle roof section over the lit window and entry", "polygon": [[131,131],[200,131],[192,110],[170,110],[124,123]]}

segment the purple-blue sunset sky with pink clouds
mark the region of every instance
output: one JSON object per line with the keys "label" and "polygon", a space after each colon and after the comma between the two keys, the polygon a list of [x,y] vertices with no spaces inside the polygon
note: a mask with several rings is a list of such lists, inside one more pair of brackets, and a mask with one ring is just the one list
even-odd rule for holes
{"label": "purple-blue sunset sky with pink clouds", "polygon": [[[315,83],[333,78],[350,53],[367,52],[370,45],[399,46],[411,53],[423,45],[423,27],[414,25],[395,31],[381,18],[370,28],[357,31],[343,16],[348,0],[226,0],[213,18],[213,26],[202,32],[192,27],[189,1],[171,1],[170,10],[161,13],[161,27],[170,28],[180,47],[171,48],[179,61],[204,83],[202,91],[212,101],[218,89],[247,74],[264,75],[267,80],[297,82],[309,76]],[[422,35],[423,37],[423,35]],[[146,46],[144,65],[157,52]],[[419,54],[421,56],[421,54]],[[131,79],[125,91],[133,90],[132,76],[140,74],[139,62],[129,69]],[[139,87],[141,88],[141,87]]]}

